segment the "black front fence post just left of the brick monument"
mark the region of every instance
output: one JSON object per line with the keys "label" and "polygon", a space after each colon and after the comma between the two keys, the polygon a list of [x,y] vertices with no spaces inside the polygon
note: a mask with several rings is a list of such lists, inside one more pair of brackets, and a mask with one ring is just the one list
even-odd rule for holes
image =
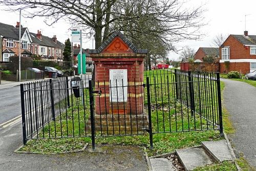
{"label": "black front fence post just left of the brick monument", "polygon": [[93,87],[92,80],[89,80],[89,96],[90,96],[90,114],[91,114],[91,131],[92,131],[92,146],[95,150],[95,125],[94,125],[94,100],[93,100]]}

